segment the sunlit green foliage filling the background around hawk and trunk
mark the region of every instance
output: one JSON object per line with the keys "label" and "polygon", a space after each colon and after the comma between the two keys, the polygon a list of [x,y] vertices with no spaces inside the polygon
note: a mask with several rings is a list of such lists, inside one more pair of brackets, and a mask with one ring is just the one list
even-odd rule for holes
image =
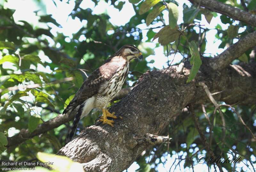
{"label": "sunlit green foliage filling the background around hawk and trunk", "polygon": [[[97,0],[92,1],[95,5],[98,4]],[[108,2],[108,0],[105,1]],[[237,1],[219,1],[239,9],[244,8]],[[76,1],[69,16],[73,19],[78,18],[82,22],[86,21],[86,24],[72,37],[60,32],[56,34],[51,32],[52,28],[61,27],[52,15],[39,15],[36,12],[40,25],[27,21],[15,22],[14,10],[4,7],[4,3],[0,5],[0,151],[3,152],[0,156],[1,160],[26,161],[37,157],[41,161],[48,161],[50,157],[52,161],[52,155],[38,154],[36,156],[36,153],[55,154],[60,147],[64,146],[68,132],[66,125],[60,125],[47,133],[37,135],[16,147],[8,147],[7,150],[6,138],[17,134],[22,129],[28,129],[32,133],[40,123],[56,117],[58,112],[61,113],[86,79],[86,75],[90,75],[121,46],[133,44],[139,47],[144,57],[148,57],[154,53],[154,50],[146,43],[158,38],[156,47],[164,46],[163,53],[167,57],[164,59],[167,61],[166,66],[173,65],[168,56],[172,55],[175,58],[174,54],[177,53],[183,57],[182,61],[190,61],[192,68],[187,80],[190,82],[196,79],[196,74],[202,64],[200,57],[202,55],[213,57],[213,54],[205,53],[205,34],[211,29],[200,25],[203,18],[210,24],[212,18],[220,16],[221,22],[229,25],[228,29],[222,29],[220,25],[214,28],[216,39],[221,41],[219,48],[232,45],[235,39],[240,39],[255,30],[225,15],[217,15],[205,8],[191,4],[182,5],[172,0],[129,0],[129,3],[133,4],[135,15],[125,25],[116,26],[111,24],[107,13],[94,14],[90,8],[82,9],[80,7],[82,2]],[[124,4],[128,3],[123,1],[116,3],[113,0],[109,2],[119,11],[123,9]],[[43,6],[45,8],[45,4]],[[183,23],[177,23],[181,15],[178,11],[180,6],[183,7]],[[255,6],[255,1],[247,5],[249,10],[253,10]],[[163,19],[166,11],[169,14],[168,21]],[[141,41],[143,38],[139,27],[141,24],[148,26],[145,42]],[[155,26],[156,24],[161,26]],[[44,27],[41,27],[42,25]],[[238,32],[239,29],[242,32]],[[85,39],[80,39],[82,37]],[[248,63],[250,53],[251,51],[246,51],[239,60]],[[156,69],[149,67],[151,63],[154,63],[154,60],[144,59],[139,63],[133,61],[130,65],[131,73],[127,77],[127,84],[123,87],[127,87],[128,84],[135,85],[142,73]],[[65,78],[69,77],[73,80],[65,81]],[[224,102],[221,103],[224,104]],[[212,105],[205,106],[212,124],[208,123],[201,108],[196,110],[196,116],[205,130],[205,136],[208,139],[212,138],[212,149],[217,154],[222,153],[225,156],[228,153],[239,154],[247,161],[251,161],[251,156],[256,155],[255,141],[251,142],[249,132],[244,133],[244,126],[241,125],[234,111],[228,107],[221,108],[227,122],[224,142],[221,139],[223,137],[222,120],[218,113],[214,113]],[[248,121],[246,124],[255,133],[253,121],[256,106],[236,105],[235,108],[244,121]],[[97,111],[92,111],[91,114],[80,121],[78,133],[84,126],[92,125],[100,115]],[[158,145],[146,150],[146,153],[138,157],[136,161],[140,166],[138,171],[154,170],[152,168],[157,170],[159,164],[166,163],[167,157],[175,158],[177,154],[180,155],[178,161],[184,162],[183,168],[188,169],[193,167],[192,164],[196,164],[197,156],[208,153],[199,140],[199,133],[195,130],[191,117],[179,118],[176,122],[179,125],[170,123],[164,132],[164,135],[172,133],[171,137],[174,142],[171,145]],[[197,152],[198,150],[200,151]],[[66,166],[62,166],[63,164],[70,165],[72,168],[74,166],[80,168],[68,159],[62,158],[61,161],[67,161],[67,163],[56,162],[56,169],[59,171],[63,171],[64,167],[66,169]],[[255,163],[255,160],[252,163]],[[229,164],[224,164],[223,167],[228,171],[232,169]]]}

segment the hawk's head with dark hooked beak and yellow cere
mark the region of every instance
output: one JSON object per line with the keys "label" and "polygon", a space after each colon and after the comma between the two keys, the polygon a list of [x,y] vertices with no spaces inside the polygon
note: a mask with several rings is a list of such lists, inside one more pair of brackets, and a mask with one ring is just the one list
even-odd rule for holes
{"label": "hawk's head with dark hooked beak and yellow cere", "polygon": [[140,50],[137,47],[130,44],[124,45],[119,49],[119,51],[122,52],[122,56],[126,58],[128,61],[131,61],[136,58],[139,58],[141,61],[143,58]]}

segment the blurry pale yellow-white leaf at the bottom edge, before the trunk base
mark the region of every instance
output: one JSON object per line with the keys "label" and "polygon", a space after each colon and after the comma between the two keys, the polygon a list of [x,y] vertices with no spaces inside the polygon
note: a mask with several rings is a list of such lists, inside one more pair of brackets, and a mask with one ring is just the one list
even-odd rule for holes
{"label": "blurry pale yellow-white leaf at the bottom edge, before the trunk base", "polygon": [[36,156],[42,162],[52,162],[50,167],[58,171],[84,172],[82,164],[71,161],[68,157],[38,152]]}

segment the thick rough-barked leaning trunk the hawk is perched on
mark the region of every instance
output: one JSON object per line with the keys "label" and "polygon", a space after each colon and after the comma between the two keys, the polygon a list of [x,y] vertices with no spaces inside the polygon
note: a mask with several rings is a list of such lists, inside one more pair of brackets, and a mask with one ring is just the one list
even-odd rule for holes
{"label": "thick rough-barked leaning trunk the hawk is perched on", "polygon": [[128,168],[147,148],[136,138],[146,133],[159,135],[188,104],[209,102],[205,91],[198,85],[200,81],[211,92],[222,91],[214,95],[215,100],[228,104],[256,102],[255,63],[229,65],[216,72],[205,65],[209,61],[203,59],[204,66],[189,83],[186,83],[188,68],[182,72],[177,71],[177,66],[146,72],[130,94],[110,109],[123,117],[115,120],[115,127],[100,123],[87,127],[58,154],[83,163],[86,171],[122,171]]}

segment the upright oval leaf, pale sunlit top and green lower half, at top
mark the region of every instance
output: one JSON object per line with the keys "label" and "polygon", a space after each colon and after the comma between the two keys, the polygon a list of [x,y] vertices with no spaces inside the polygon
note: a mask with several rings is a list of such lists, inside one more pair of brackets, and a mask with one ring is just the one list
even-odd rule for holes
{"label": "upright oval leaf, pale sunlit top and green lower half, at top", "polygon": [[174,3],[167,4],[169,10],[169,26],[171,29],[174,29],[177,25],[177,21],[179,18],[179,10],[178,6]]}

